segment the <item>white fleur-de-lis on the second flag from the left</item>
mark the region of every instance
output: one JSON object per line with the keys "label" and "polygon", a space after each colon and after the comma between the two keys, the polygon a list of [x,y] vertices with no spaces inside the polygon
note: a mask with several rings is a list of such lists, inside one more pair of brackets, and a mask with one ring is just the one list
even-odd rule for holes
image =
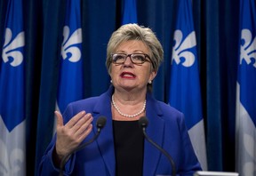
{"label": "white fleur-de-lis on the second flag from the left", "polygon": [[[63,60],[68,58],[68,53],[71,54],[69,61],[76,62],[81,59],[81,51],[74,44],[82,43],[82,28],[77,28],[76,31],[69,37],[70,30],[68,26],[63,28],[63,43],[61,45],[61,56]],[[69,37],[69,38],[68,38]]]}

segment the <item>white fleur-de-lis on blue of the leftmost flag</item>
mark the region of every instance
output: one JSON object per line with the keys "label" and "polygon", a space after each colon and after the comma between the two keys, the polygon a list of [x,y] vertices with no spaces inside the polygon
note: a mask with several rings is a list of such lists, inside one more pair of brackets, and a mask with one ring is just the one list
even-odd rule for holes
{"label": "white fleur-de-lis on blue of the leftmost flag", "polygon": [[12,67],[19,66],[23,61],[23,53],[18,49],[25,45],[24,36],[25,33],[22,31],[12,40],[12,30],[10,28],[5,29],[4,50],[2,57],[5,63],[12,58],[13,60],[10,63]]}

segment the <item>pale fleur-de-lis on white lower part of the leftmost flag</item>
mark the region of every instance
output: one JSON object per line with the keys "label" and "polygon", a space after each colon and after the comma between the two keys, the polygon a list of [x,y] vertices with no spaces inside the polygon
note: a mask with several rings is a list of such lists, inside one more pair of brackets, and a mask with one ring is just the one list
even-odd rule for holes
{"label": "pale fleur-de-lis on white lower part of the leftmost flag", "polygon": [[7,152],[4,141],[0,139],[0,175],[15,175],[20,172],[20,164],[24,162],[24,152],[20,148],[12,149],[11,154]]}

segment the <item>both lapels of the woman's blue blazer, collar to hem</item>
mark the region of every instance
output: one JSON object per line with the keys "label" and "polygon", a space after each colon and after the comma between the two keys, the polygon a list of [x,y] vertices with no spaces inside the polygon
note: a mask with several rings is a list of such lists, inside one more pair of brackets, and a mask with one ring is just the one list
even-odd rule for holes
{"label": "both lapels of the woman's blue blazer, collar to hem", "polygon": [[[110,86],[108,92],[100,95],[100,99],[93,109],[94,123],[93,130],[97,132],[96,122],[100,116],[107,117],[107,123],[102,129],[99,138],[97,139],[101,155],[105,164],[107,165],[110,175],[116,174],[116,159],[114,151],[113,125],[111,113],[111,96],[114,92],[114,87]],[[150,93],[147,93],[147,107],[146,115],[148,117],[148,128],[146,132],[148,137],[155,141],[159,146],[163,145],[164,138],[164,120],[161,118],[163,113],[159,108],[157,101]],[[143,175],[148,176],[156,172],[156,167],[159,162],[161,152],[155,148],[148,140],[144,141],[144,164]]]}

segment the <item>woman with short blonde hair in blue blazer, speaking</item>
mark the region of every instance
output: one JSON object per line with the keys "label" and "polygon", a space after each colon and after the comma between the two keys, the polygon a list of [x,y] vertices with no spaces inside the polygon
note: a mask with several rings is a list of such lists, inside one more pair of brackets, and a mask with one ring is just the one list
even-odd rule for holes
{"label": "woman with short blonde hair in blue blazer, speaking", "polygon": [[151,29],[136,24],[118,28],[107,49],[112,85],[99,97],[69,104],[63,117],[55,112],[57,135],[42,158],[40,174],[58,175],[61,159],[95,135],[100,116],[107,117],[106,126],[97,140],[70,156],[66,175],[171,175],[167,157],[144,140],[141,116],[148,117],[148,136],[172,156],[177,174],[201,170],[183,115],[151,95],[163,55]]}

